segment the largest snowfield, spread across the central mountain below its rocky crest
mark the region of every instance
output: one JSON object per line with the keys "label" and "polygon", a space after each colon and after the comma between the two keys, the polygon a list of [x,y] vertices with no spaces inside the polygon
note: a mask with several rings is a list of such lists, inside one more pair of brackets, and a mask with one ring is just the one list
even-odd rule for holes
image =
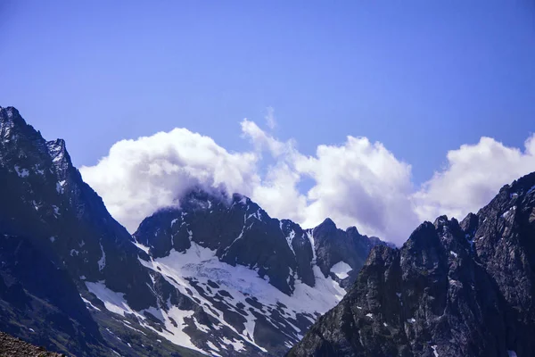
{"label": "largest snowfield, spread across the central mountain below its rocky crest", "polygon": [[[219,321],[222,326],[230,328],[236,334],[243,337],[244,341],[257,346],[260,350],[267,352],[263,347],[256,344],[253,332],[257,318],[250,311],[255,310],[269,316],[270,309],[282,309],[284,316],[297,320],[297,314],[302,314],[306,318],[313,317],[317,313],[323,314],[333,308],[336,303],[342,300],[345,290],[331,277],[325,278],[319,267],[313,266],[316,278],[316,285],[310,287],[300,281],[295,280],[292,296],[285,295],[275,286],[268,283],[268,280],[260,278],[257,270],[251,270],[242,265],[232,266],[226,262],[220,262],[216,256],[216,251],[197,245],[192,242],[191,247],[185,252],[171,251],[168,256],[145,262],[139,259],[145,267],[158,271],[166,278],[172,286],[184,294],[198,300],[202,306],[206,306],[206,313]],[[216,282],[219,289],[225,290],[230,297],[225,298],[226,307],[233,311],[242,310],[236,306],[240,303],[251,306],[246,299],[254,296],[262,308],[250,307],[245,310],[245,328],[238,331],[231,324],[223,319],[223,311],[219,310],[207,297],[217,294],[210,293],[208,289],[205,294],[201,294],[197,289],[191,288],[189,279],[194,279],[198,286],[208,286],[208,280]],[[280,308],[277,303],[283,303],[285,308]],[[165,319],[165,311],[163,312]],[[313,319],[310,319],[313,322]],[[167,323],[166,323],[167,326]],[[168,327],[174,332],[177,328]],[[296,333],[296,337],[300,336]],[[238,344],[236,342],[236,344]],[[242,344],[242,343],[239,343]],[[235,348],[243,348],[243,345],[235,345]]]}

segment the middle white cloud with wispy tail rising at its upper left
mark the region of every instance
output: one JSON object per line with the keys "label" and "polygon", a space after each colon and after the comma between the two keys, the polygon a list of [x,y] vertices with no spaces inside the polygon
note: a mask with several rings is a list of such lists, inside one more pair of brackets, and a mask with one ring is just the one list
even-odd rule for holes
{"label": "middle white cloud with wispy tail rising at its upper left", "polygon": [[[276,158],[251,197],[276,217],[304,227],[330,217],[341,228],[357,226],[396,242],[416,227],[410,165],[399,162],[381,143],[347,137],[343,145],[319,145],[315,156],[305,156],[292,141],[280,142],[254,122],[243,120],[242,130],[257,151],[267,150]],[[308,193],[297,189],[304,177],[315,183]]]}

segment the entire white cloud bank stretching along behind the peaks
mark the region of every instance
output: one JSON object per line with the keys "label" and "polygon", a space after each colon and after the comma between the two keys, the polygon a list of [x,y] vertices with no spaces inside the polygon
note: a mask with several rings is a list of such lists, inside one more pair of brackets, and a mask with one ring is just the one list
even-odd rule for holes
{"label": "entire white cloud bank stretching along behind the peaks", "polygon": [[[272,109],[268,116],[274,124]],[[179,204],[185,190],[202,185],[248,195],[271,216],[305,228],[330,217],[339,227],[356,226],[401,244],[421,221],[440,214],[462,219],[488,203],[500,187],[535,170],[533,135],[523,150],[490,137],[461,145],[449,151],[443,170],[415,187],[411,166],[366,137],[318,145],[308,156],[294,141],[280,141],[253,121],[243,120],[241,129],[251,143],[251,150],[243,153],[174,129],[119,141],[95,166],[80,171],[130,232],[158,209]],[[299,188],[303,179],[313,183],[307,192]]]}

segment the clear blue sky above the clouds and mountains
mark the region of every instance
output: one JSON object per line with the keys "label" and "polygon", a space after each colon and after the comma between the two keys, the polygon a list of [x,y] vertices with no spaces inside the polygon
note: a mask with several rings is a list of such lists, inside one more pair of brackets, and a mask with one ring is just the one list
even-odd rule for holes
{"label": "clear blue sky above the clouds and mountains", "polygon": [[[186,128],[250,147],[248,118],[300,153],[348,135],[412,165],[463,144],[523,148],[535,126],[532,1],[0,3],[0,105],[75,164],[123,138]],[[303,179],[304,180],[304,179]]]}

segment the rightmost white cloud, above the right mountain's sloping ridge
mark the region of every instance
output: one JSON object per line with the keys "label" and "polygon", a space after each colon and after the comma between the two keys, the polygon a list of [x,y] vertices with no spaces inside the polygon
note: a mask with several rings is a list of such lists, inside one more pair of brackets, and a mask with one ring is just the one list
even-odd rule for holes
{"label": "rightmost white cloud, above the right mountain's sloping ridge", "polygon": [[524,146],[521,151],[481,137],[476,145],[449,151],[446,169],[435,172],[414,195],[420,219],[447,214],[462,220],[467,213],[477,212],[500,187],[535,170],[535,136]]}

